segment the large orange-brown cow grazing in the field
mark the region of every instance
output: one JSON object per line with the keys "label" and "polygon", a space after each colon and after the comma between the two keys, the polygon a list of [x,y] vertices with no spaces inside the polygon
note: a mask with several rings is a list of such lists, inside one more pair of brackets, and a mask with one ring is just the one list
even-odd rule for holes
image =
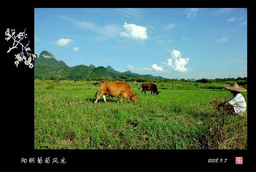
{"label": "large orange-brown cow grazing in the field", "polygon": [[[97,96],[98,90],[100,88],[100,93]],[[106,95],[108,94],[111,97],[116,97],[118,95],[121,96],[121,100],[120,102],[123,101],[123,97],[131,99],[131,101],[133,103],[137,103],[137,97],[136,94],[134,94],[131,90],[131,87],[128,83],[125,82],[106,82],[106,81],[102,81],[100,82],[100,85],[98,87],[98,90],[95,94],[95,103],[97,103],[98,99],[100,98],[100,96],[103,94],[103,99],[104,101],[107,103],[106,101]],[[96,97],[97,96],[97,97]]]}

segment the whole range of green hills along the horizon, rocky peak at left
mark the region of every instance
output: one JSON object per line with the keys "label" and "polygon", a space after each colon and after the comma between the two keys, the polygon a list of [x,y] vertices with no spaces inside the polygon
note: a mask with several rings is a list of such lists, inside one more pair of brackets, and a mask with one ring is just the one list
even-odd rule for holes
{"label": "whole range of green hills along the horizon, rocky peak at left", "polygon": [[107,68],[103,66],[95,67],[94,65],[77,65],[69,67],[62,60],[58,61],[54,55],[47,51],[42,51],[39,57],[35,60],[35,79],[49,79],[51,76],[58,76],[67,79],[92,79],[92,78],[109,78],[116,79],[120,76],[127,76],[129,78],[154,78],[165,79],[161,76],[140,75],[132,73],[131,71],[119,72],[114,70],[111,66]]}

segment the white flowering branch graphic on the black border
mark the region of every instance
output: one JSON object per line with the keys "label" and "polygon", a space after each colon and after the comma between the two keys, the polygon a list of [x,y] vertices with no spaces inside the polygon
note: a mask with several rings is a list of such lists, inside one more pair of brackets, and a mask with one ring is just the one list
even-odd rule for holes
{"label": "white flowering branch graphic on the black border", "polygon": [[28,47],[28,44],[26,44],[26,46],[24,46],[21,43],[21,40],[23,40],[24,38],[27,38],[27,34],[25,34],[26,29],[24,30],[24,32],[20,32],[19,34],[17,34],[17,36],[15,36],[15,29],[12,29],[11,32],[12,34],[10,34],[10,29],[8,28],[5,32],[5,35],[7,36],[7,38],[5,38],[7,41],[10,40],[11,38],[13,39],[13,45],[12,48],[9,47],[9,50],[7,51],[7,53],[9,53],[12,49],[17,49],[19,45],[21,45],[21,52],[15,56],[15,59],[17,59],[17,61],[15,61],[14,63],[16,64],[16,67],[18,67],[18,65],[20,64],[20,62],[22,62],[24,60],[24,64],[28,65],[29,68],[33,68],[34,65],[33,63],[31,63],[32,60],[35,60],[37,58],[36,54],[33,53],[28,53],[28,51],[31,51],[31,49]]}

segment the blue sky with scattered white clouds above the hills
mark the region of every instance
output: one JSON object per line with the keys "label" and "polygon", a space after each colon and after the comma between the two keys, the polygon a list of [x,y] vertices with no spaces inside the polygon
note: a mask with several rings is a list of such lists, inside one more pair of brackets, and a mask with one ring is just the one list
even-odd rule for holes
{"label": "blue sky with scattered white clouds above the hills", "polygon": [[169,79],[247,77],[246,8],[35,8],[35,54]]}

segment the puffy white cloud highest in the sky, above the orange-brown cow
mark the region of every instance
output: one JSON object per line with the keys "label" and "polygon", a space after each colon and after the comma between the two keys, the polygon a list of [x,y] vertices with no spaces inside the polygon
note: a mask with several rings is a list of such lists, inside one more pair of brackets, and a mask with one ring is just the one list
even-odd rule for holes
{"label": "puffy white cloud highest in the sky, above the orange-brown cow", "polygon": [[142,26],[137,26],[134,24],[127,24],[126,22],[123,25],[124,32],[120,33],[120,36],[137,39],[137,40],[145,40],[148,39],[147,28]]}

